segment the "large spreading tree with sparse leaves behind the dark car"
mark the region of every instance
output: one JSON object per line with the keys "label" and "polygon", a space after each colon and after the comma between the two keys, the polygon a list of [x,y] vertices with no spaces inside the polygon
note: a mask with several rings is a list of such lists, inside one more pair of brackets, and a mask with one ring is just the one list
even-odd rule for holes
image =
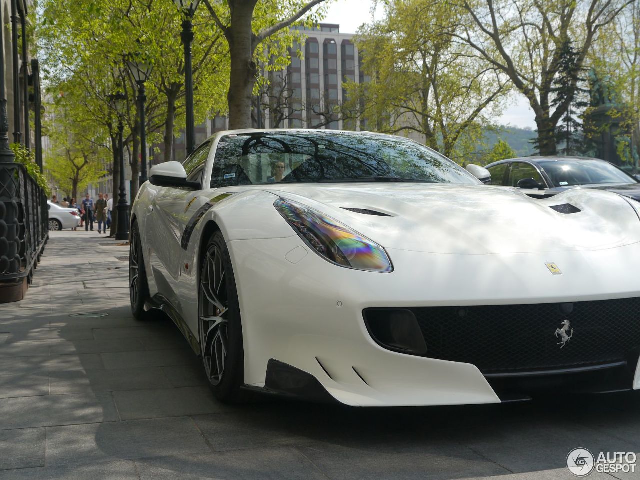
{"label": "large spreading tree with sparse leaves behind the dark car", "polygon": [[508,75],[527,97],[538,125],[543,155],[554,155],[556,127],[572,102],[577,78],[553,107],[553,88],[562,70],[563,45],[573,45],[574,68],[582,69],[588,52],[623,10],[636,0],[460,0],[468,23],[458,40],[479,58]]}

